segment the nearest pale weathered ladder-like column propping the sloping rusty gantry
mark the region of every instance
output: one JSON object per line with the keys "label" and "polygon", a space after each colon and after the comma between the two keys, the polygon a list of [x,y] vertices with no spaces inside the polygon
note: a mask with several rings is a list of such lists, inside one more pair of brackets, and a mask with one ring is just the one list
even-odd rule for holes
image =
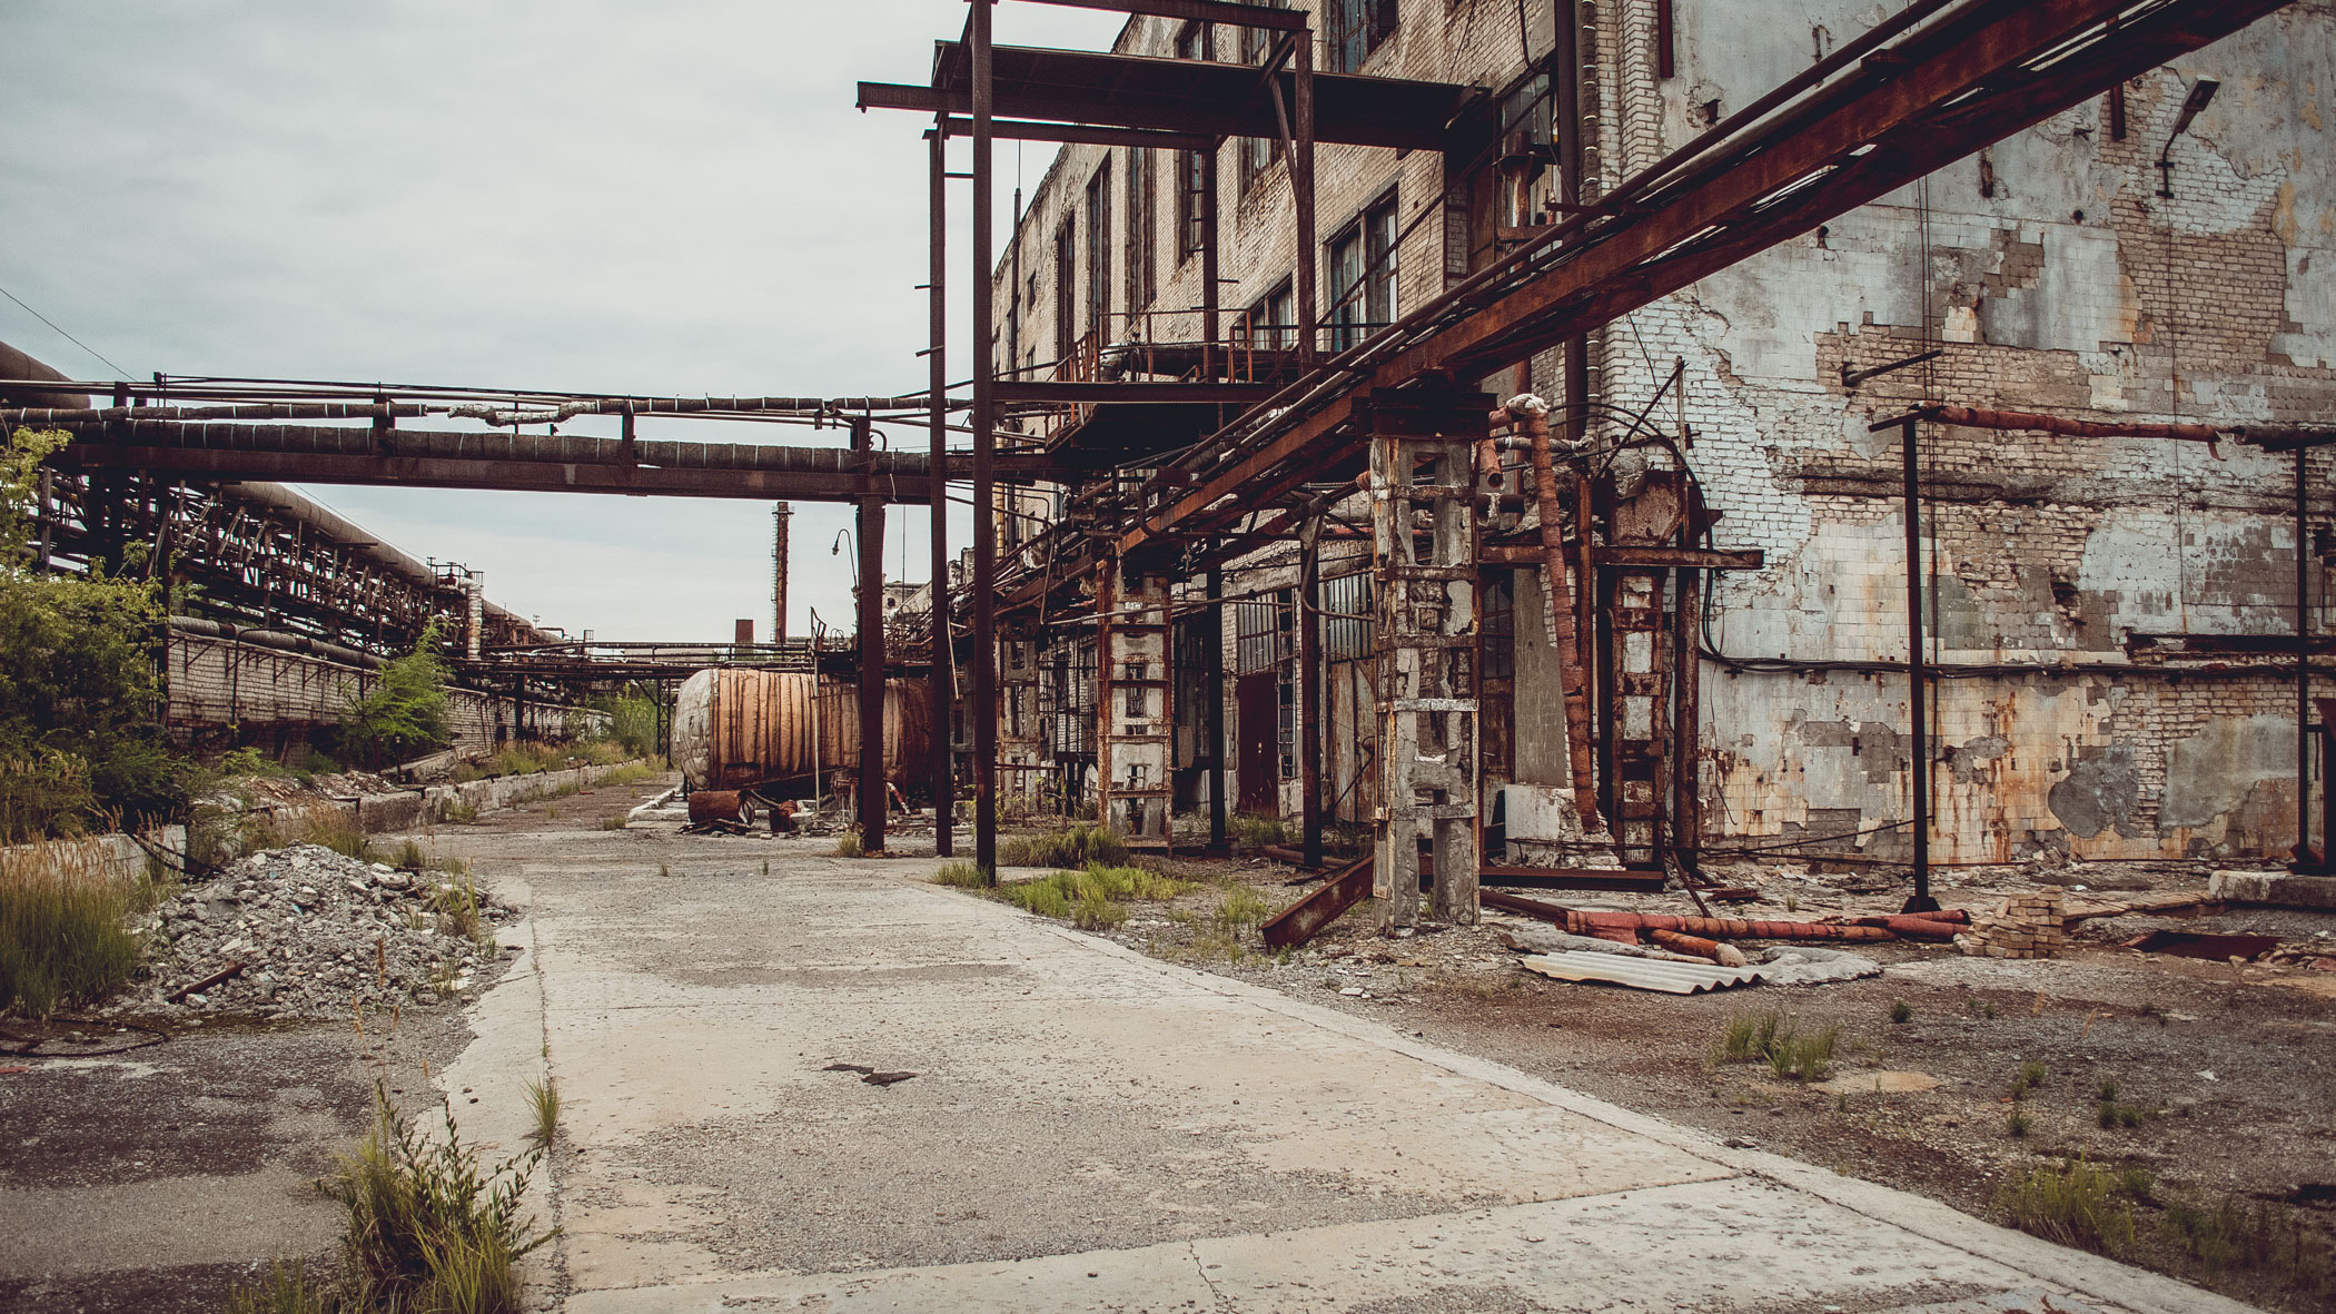
{"label": "nearest pale weathered ladder-like column propping the sloping rusty gantry", "polygon": [[[1437,404],[1441,402],[1441,404]],[[1378,582],[1378,928],[1476,921],[1476,442],[1490,397],[1376,390],[1371,556]]]}

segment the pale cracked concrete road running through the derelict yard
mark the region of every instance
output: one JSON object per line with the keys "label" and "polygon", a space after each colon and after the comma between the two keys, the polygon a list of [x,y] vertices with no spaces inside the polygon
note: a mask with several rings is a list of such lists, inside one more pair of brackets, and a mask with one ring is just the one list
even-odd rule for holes
{"label": "pale cracked concrete road running through the derelict yard", "polygon": [[930,886],[930,858],[439,839],[530,910],[444,1085],[509,1143],[521,1083],[558,1078],[572,1314],[2240,1309]]}

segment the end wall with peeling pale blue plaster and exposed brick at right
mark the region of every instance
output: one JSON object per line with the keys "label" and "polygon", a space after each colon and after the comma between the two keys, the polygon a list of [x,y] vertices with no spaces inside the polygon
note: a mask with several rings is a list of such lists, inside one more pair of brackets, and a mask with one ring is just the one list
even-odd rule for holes
{"label": "end wall with peeling pale blue plaster and exposed brick at right", "polygon": [[[1670,150],[1703,105],[1740,108],[1880,21],[1808,2],[1747,30],[1740,5],[1680,5],[1680,77],[1633,89],[1638,5],[1607,42],[1631,157]],[[1803,23],[1806,19],[1806,23]],[[1712,835],[1859,832],[1813,851],[1906,853],[1899,437],[1911,402],[2077,419],[2336,423],[2336,7],[2296,5],[1607,330],[1600,388],[1631,404],[1684,362],[1691,461],[1717,540],[1771,566],[1712,599],[1705,669]],[[2215,103],[2154,159],[2196,77]],[[1633,140],[1652,105],[1659,129]],[[1628,112],[1640,110],[1640,112]],[[1640,131],[1645,138],[1645,131]],[[1843,388],[1843,369],[1941,360]],[[1670,402],[1666,402],[1670,409]],[[2292,676],[2130,671],[2135,634],[2292,634],[2294,468],[2252,449],[1923,433],[1934,842],[1948,863],[2278,856],[2294,842]],[[2336,461],[2315,458],[2313,524]],[[2327,627],[2324,568],[2310,622]]]}

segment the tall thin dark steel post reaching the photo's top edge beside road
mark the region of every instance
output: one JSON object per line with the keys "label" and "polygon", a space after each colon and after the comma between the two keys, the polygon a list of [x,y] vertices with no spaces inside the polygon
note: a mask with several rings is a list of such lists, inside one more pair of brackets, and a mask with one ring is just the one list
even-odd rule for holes
{"label": "tall thin dark steel post reaching the photo's top edge beside road", "polygon": [[995,325],[990,288],[990,2],[974,0],[967,23],[974,119],[974,863],[997,879],[997,521],[990,456]]}

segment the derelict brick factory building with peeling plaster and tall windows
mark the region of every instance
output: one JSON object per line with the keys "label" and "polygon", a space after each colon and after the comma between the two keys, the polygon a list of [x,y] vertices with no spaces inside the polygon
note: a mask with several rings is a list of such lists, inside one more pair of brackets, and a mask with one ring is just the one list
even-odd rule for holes
{"label": "derelict brick factory building with peeling plaster and tall windows", "polygon": [[[1016,189],[993,367],[1271,395],[1885,21],[1864,0],[1320,0],[1310,124],[1280,103],[1280,136],[1072,140]],[[1168,16],[1133,16],[1114,54],[1289,61],[1271,28]],[[1049,51],[995,58],[1000,96],[1058,79]],[[953,65],[944,42],[937,87]],[[1367,828],[1390,727],[1467,706],[1472,729],[1416,746],[1451,779],[1397,811],[1425,832],[1479,809],[1488,863],[1607,839],[1628,865],[1902,863],[1918,790],[1937,863],[2285,858],[2322,807],[2299,797],[2320,786],[2296,664],[2327,664],[2336,454],[2275,435],[2336,419],[2331,91],[2336,7],[2280,7],[1453,376],[1483,402],[1465,442],[1423,449],[1474,479],[1451,559],[1390,570],[1385,470],[1350,461],[1236,507],[1208,559],[1112,561],[1126,493],[1252,393],[1002,388],[1000,447],[1077,475],[1000,493],[1000,793],[1100,800],[1161,842],[1212,788]],[[1418,131],[1341,131],[1374,112]],[[1441,687],[1381,687],[1381,594],[1462,575],[1462,615],[1416,648],[1462,652]]]}

